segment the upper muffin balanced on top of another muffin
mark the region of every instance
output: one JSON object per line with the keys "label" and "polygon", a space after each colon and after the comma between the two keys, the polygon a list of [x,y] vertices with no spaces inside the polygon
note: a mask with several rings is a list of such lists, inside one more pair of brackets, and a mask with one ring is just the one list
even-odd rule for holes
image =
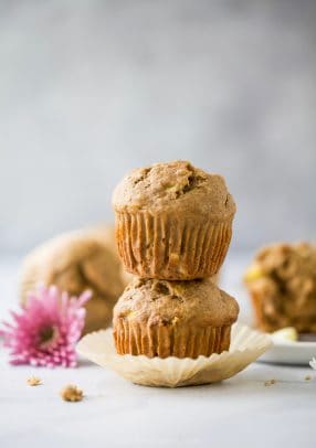
{"label": "upper muffin balanced on top of another muffin", "polygon": [[187,161],[137,169],[115,189],[116,241],[141,278],[210,277],[227,255],[235,204],[225,182]]}

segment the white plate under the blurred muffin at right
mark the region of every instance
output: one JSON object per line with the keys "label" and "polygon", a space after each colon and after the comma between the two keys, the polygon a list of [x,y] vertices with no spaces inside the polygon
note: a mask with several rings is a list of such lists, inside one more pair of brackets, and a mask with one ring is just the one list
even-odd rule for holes
{"label": "white plate under the blurred muffin at right", "polygon": [[308,365],[316,358],[316,342],[273,340],[273,346],[259,361],[280,364]]}

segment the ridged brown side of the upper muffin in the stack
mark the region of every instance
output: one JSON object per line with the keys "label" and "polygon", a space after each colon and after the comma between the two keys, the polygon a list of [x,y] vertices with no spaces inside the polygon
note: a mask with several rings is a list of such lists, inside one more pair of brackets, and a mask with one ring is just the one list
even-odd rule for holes
{"label": "ridged brown side of the upper muffin in the stack", "polygon": [[162,280],[217,274],[231,242],[232,217],[219,223],[201,221],[116,212],[116,239],[126,270]]}

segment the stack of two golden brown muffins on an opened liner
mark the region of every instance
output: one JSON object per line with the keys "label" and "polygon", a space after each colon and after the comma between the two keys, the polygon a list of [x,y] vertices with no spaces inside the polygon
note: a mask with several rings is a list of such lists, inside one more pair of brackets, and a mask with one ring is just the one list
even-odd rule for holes
{"label": "stack of two golden brown muffins on an opened liner", "polygon": [[236,301],[211,280],[232,235],[223,178],[186,161],[126,177],[113,196],[116,241],[137,277],[114,308],[119,354],[197,358],[229,349]]}

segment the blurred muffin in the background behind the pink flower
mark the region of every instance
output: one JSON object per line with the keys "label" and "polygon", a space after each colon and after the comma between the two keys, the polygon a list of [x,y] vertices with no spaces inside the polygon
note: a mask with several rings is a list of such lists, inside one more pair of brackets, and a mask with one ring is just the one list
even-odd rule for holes
{"label": "blurred muffin in the background behind the pink flower", "polygon": [[24,302],[39,282],[56,285],[76,296],[91,289],[84,328],[87,333],[108,327],[113,307],[130,277],[117,255],[114,230],[99,226],[65,233],[32,250],[21,269],[20,295]]}

